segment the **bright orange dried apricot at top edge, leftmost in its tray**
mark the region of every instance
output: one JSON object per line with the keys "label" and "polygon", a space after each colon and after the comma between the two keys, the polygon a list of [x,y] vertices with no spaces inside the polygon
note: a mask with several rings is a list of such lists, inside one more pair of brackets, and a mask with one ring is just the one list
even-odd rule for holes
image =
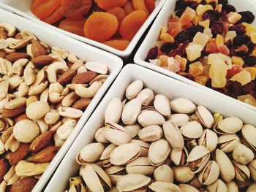
{"label": "bright orange dried apricot at top edge, leftmost in its tray", "polygon": [[48,18],[61,5],[61,0],[34,0],[31,12],[39,19]]}

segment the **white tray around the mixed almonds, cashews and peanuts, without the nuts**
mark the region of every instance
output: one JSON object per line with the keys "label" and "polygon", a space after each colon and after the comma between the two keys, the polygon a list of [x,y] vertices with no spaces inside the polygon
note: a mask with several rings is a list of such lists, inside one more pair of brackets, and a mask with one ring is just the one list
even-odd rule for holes
{"label": "white tray around the mixed almonds, cashews and peanuts, without the nuts", "polygon": [[86,111],[83,113],[83,116],[80,118],[72,131],[72,134],[70,134],[69,138],[61,147],[55,158],[53,158],[53,161],[51,161],[48,169],[45,170],[44,174],[42,174],[42,177],[37,182],[37,185],[34,187],[34,191],[42,191],[42,188],[44,188],[45,184],[48,183],[50,176],[53,174],[61,159],[72,145],[72,142],[83,128],[84,123],[86,123],[86,120],[89,119],[91,113],[97,107],[100,99],[102,99],[102,96],[104,96],[105,92],[108,90],[111,83],[120,72],[123,61],[121,61],[121,58],[118,58],[116,55],[112,55],[103,50],[91,47],[90,45],[85,45],[82,42],[78,42],[75,39],[59,34],[50,28],[45,28],[44,26],[34,23],[31,20],[21,18],[20,16],[7,12],[3,9],[0,9],[0,23],[10,23],[16,26],[19,30],[26,29],[27,31],[31,31],[38,37],[38,39],[50,45],[50,47],[61,47],[68,50],[70,53],[75,53],[78,58],[86,61],[99,61],[102,64],[106,64],[108,65],[110,72],[108,79],[102,85],[102,88],[100,88],[97,95],[94,96],[94,99],[92,99],[91,104],[89,104],[89,107],[87,107]]}

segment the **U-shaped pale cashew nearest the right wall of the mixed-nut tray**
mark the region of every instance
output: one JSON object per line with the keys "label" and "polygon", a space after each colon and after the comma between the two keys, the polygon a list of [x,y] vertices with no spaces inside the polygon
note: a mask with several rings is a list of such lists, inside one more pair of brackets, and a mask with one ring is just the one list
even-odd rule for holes
{"label": "U-shaped pale cashew nearest the right wall of the mixed-nut tray", "polygon": [[75,85],[75,93],[83,98],[92,98],[99,91],[102,83],[99,81],[93,82],[89,88],[84,88],[83,85]]}

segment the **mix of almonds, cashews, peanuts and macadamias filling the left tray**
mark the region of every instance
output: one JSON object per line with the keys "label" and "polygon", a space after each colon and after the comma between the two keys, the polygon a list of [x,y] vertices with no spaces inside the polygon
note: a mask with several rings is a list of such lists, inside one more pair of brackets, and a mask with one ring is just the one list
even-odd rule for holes
{"label": "mix of almonds, cashews, peanuts and macadamias filling the left tray", "polygon": [[0,191],[31,191],[107,77],[105,64],[0,23]]}

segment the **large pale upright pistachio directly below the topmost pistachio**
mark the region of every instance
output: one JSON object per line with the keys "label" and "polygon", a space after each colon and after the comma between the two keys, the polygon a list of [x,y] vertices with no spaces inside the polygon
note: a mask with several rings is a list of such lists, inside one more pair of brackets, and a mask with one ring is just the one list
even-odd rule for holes
{"label": "large pale upright pistachio directly below the topmost pistachio", "polygon": [[141,101],[140,99],[132,99],[129,101],[122,112],[121,120],[125,125],[133,125],[136,123],[138,115],[140,115]]}

